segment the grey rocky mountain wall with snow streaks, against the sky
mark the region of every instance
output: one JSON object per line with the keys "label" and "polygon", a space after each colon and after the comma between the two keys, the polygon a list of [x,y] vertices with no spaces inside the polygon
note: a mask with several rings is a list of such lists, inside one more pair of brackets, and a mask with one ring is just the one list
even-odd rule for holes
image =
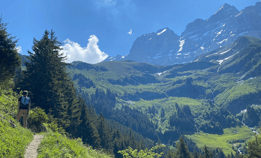
{"label": "grey rocky mountain wall with snow streaks, against the sky", "polygon": [[223,5],[209,19],[189,23],[181,36],[169,28],[138,37],[130,54],[108,57],[105,61],[134,60],[154,65],[172,65],[191,62],[200,55],[226,46],[238,37],[261,37],[261,2],[238,11]]}

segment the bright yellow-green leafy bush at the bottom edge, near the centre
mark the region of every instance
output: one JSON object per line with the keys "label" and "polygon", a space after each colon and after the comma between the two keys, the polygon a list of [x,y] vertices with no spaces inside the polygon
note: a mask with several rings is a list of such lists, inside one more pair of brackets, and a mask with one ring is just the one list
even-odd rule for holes
{"label": "bright yellow-green leafy bush at the bottom edge, near the centre", "polygon": [[154,150],[165,147],[165,145],[156,145],[152,147],[151,149],[145,149],[145,150],[137,150],[132,149],[131,147],[128,147],[125,150],[119,151],[123,155],[124,158],[131,158],[131,157],[140,157],[140,158],[154,158],[154,157],[161,157],[163,152],[161,153],[155,153]]}

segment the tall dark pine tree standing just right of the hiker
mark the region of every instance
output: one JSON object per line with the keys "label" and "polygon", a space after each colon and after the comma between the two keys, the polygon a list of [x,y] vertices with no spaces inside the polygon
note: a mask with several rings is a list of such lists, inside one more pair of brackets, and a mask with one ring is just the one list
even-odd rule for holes
{"label": "tall dark pine tree standing just right of the hiker", "polygon": [[41,40],[33,39],[33,52],[28,51],[29,62],[20,86],[32,93],[32,103],[52,115],[66,128],[70,125],[68,109],[75,98],[75,90],[66,72],[66,57],[60,53],[61,42],[55,32],[45,31]]}

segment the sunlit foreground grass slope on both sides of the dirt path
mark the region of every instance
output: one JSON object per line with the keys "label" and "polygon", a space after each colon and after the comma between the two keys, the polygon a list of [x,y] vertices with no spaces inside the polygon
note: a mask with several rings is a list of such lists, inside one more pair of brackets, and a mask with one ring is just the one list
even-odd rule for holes
{"label": "sunlit foreground grass slope on both sides of the dirt path", "polygon": [[[14,118],[17,114],[18,95],[11,88],[12,82],[0,86],[0,157],[23,157],[33,133],[23,128]],[[30,115],[29,115],[30,116]],[[48,128],[48,124],[45,124]],[[68,139],[59,132],[41,133],[45,137],[40,144],[38,157],[113,157],[102,150],[94,150],[81,139]],[[60,142],[60,144],[57,144]]]}

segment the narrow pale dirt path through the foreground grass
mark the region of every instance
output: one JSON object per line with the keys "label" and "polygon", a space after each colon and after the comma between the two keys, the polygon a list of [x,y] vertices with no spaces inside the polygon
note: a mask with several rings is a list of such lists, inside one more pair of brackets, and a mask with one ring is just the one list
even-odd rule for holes
{"label": "narrow pale dirt path through the foreground grass", "polygon": [[43,135],[34,135],[33,140],[31,143],[27,146],[24,158],[36,158],[38,155],[37,149],[39,144],[41,143],[41,140],[44,136]]}

